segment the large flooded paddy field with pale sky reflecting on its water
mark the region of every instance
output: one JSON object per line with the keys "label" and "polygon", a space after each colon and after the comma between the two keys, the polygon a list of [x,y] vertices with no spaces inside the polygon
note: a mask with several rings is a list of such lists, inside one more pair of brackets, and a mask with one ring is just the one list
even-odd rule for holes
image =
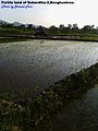
{"label": "large flooded paddy field with pale sky reflecting on its water", "polygon": [[[30,40],[0,44],[0,92],[34,93],[98,61],[98,43]],[[23,90],[22,90],[23,92]]]}

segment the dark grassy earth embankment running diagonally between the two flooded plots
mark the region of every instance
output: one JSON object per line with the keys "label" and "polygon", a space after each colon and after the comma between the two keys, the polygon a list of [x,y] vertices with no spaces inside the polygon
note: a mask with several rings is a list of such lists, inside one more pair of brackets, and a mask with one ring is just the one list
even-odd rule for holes
{"label": "dark grassy earth embankment running diagonally between the two flooded plots", "polygon": [[98,83],[98,63],[56,82],[26,100],[0,100],[0,131],[51,131],[52,119],[74,94]]}

